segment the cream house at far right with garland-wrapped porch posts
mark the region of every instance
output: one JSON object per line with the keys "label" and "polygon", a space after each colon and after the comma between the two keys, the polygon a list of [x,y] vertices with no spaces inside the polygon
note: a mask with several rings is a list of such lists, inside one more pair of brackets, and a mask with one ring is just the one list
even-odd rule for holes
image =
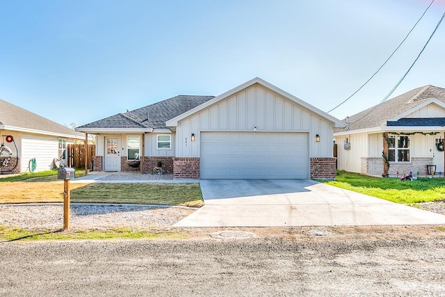
{"label": "cream house at far right with garland-wrapped porch posts", "polygon": [[444,88],[416,88],[345,122],[334,130],[339,169],[395,176],[425,174],[427,165],[435,165],[444,172]]}

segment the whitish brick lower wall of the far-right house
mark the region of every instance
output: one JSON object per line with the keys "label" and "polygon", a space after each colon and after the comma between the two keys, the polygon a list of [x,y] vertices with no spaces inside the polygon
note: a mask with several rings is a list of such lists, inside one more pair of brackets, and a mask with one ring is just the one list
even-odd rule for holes
{"label": "whitish brick lower wall of the far-right house", "polygon": [[[383,174],[383,158],[382,157],[362,157],[361,158],[361,172],[365,175],[382,175]],[[403,171],[410,173],[412,171],[416,174],[418,171],[421,175],[425,174],[426,166],[432,164],[432,157],[413,156],[410,162],[389,162],[389,175],[396,176],[397,171],[399,175]],[[441,164],[437,165],[437,170],[442,170]]]}

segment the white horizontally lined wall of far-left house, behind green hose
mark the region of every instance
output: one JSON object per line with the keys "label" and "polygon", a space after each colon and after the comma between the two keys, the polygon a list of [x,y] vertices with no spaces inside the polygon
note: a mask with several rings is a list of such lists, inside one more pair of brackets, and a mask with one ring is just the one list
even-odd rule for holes
{"label": "white horizontally lined wall of far-left house, behind green hose", "polygon": [[50,170],[58,157],[58,137],[22,134],[22,172],[29,171],[29,161],[35,158],[35,171]]}

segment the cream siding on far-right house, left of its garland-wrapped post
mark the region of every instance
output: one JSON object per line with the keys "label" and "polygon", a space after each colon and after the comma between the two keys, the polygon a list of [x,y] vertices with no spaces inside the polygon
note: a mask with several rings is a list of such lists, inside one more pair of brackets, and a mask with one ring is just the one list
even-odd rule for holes
{"label": "cream siding on far-right house, left of its garland-wrapped post", "polygon": [[[349,138],[350,150],[344,149],[344,139]],[[369,156],[368,134],[351,134],[349,136],[337,136],[335,138],[337,143],[337,168],[339,170],[346,170],[349,172],[361,172],[361,158],[362,156]],[[382,155],[380,151],[380,156]]]}

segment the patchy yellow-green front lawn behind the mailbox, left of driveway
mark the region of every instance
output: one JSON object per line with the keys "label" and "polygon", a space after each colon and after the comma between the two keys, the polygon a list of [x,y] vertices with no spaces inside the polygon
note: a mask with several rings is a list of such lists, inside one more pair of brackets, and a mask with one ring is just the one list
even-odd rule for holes
{"label": "patchy yellow-green front lawn behind the mailbox, left of driveway", "polygon": [[[199,184],[70,184],[70,188],[71,202],[204,205]],[[63,181],[54,173],[0,178],[0,204],[49,202],[63,202]]]}

